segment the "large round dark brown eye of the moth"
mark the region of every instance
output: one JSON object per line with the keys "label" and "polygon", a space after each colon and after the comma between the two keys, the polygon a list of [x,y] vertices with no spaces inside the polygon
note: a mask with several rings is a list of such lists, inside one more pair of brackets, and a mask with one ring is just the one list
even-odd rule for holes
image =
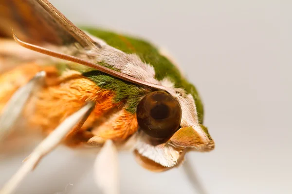
{"label": "large round dark brown eye of the moth", "polygon": [[138,124],[151,137],[169,138],[180,127],[181,119],[179,102],[164,91],[146,95],[137,107]]}

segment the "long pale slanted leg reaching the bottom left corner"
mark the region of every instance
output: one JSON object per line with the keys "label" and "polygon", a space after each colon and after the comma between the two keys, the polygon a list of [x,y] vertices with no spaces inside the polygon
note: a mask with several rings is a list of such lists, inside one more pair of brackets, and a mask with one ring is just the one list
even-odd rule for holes
{"label": "long pale slanted leg reaching the bottom left corner", "polygon": [[0,194],[13,193],[22,179],[36,167],[41,158],[52,151],[76,124],[88,117],[94,105],[93,102],[87,103],[79,111],[66,118],[54,131],[52,131],[28,156],[13,177],[3,186],[0,190]]}

